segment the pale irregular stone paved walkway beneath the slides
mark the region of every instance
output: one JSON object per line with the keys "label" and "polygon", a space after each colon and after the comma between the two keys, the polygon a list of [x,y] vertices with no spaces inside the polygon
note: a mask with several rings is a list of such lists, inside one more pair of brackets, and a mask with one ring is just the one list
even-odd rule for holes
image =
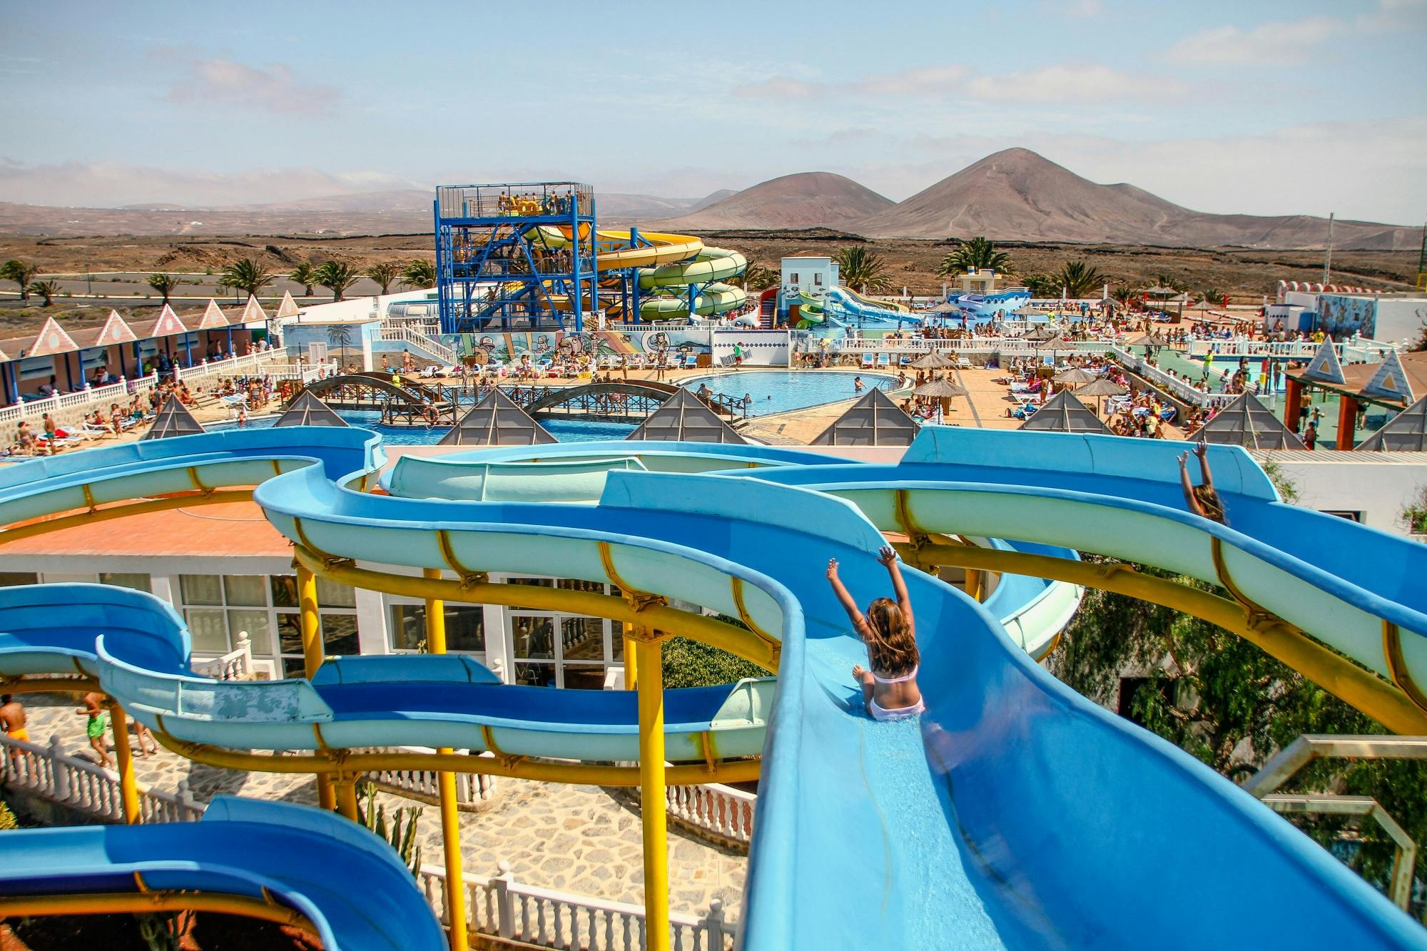
{"label": "pale irregular stone paved walkway beneath the slides", "polygon": [[[34,743],[49,744],[59,735],[70,754],[88,751],[84,717],[77,701],[31,694],[23,698],[30,714]],[[137,738],[130,735],[137,753]],[[93,753],[90,753],[93,755]],[[283,800],[313,805],[317,784],[311,777],[273,773],[238,773],[190,763],[167,750],[137,758],[136,774],[146,787],[177,791],[188,783],[194,798],[207,801],[218,794]],[[497,804],[482,812],[461,814],[461,850],[465,870],[494,875],[499,861],[522,884],[557,888],[611,901],[641,904],[644,871],[638,808],[615,790],[594,785],[559,785],[499,778]],[[421,807],[418,841],[422,861],[440,865],[441,820],[437,807],[381,794],[388,814],[404,805]],[[699,914],[712,900],[723,902],[736,918],[742,905],[745,855],[686,838],[669,830],[669,905],[675,911]]]}

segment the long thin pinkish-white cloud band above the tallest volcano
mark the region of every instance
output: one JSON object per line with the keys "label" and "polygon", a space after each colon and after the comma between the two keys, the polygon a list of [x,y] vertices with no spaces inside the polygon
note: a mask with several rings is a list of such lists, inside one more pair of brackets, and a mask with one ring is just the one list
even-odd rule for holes
{"label": "long thin pinkish-white cloud band above the tallest volcano", "polygon": [[1189,86],[1157,76],[1137,76],[1109,66],[1042,66],[1023,73],[975,73],[960,64],[928,66],[895,73],[872,73],[850,83],[809,83],[775,76],[735,87],[735,94],[758,99],[955,99],[1013,103],[1103,103],[1163,100],[1183,96]]}

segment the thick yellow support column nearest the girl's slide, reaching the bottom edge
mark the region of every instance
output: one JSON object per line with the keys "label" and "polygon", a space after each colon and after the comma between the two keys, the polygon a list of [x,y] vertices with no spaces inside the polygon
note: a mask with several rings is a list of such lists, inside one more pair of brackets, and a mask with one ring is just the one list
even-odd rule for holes
{"label": "thick yellow support column nearest the girl's slide, reaching the bottom edge", "polygon": [[664,785],[664,658],[658,635],[638,631],[639,812],[644,821],[644,922],[649,951],[669,951],[669,827]]}

